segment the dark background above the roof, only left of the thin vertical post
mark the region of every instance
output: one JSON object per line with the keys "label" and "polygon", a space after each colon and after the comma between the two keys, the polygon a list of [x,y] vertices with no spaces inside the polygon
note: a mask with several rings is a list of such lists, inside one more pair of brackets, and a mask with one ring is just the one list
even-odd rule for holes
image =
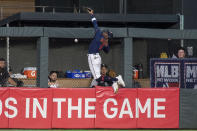
{"label": "dark background above the roof, only left of the thin vertical post", "polygon": [[[88,6],[97,13],[118,13],[119,0],[36,0],[37,6],[53,6],[57,12],[83,12],[82,7]],[[48,8],[46,11],[51,11]],[[39,11],[39,9],[37,9]]]}

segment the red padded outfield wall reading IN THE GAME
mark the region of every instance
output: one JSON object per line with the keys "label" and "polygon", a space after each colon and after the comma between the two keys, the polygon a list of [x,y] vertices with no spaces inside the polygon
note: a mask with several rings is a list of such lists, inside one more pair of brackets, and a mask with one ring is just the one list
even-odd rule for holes
{"label": "red padded outfield wall reading IN THE GAME", "polygon": [[179,89],[1,88],[0,128],[179,128]]}

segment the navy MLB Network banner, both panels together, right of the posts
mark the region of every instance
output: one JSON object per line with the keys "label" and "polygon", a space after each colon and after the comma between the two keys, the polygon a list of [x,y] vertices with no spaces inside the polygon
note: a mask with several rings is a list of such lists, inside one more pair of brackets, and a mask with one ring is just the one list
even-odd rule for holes
{"label": "navy MLB Network banner, both panels together, right of the posts", "polygon": [[151,87],[197,88],[197,59],[151,59]]}

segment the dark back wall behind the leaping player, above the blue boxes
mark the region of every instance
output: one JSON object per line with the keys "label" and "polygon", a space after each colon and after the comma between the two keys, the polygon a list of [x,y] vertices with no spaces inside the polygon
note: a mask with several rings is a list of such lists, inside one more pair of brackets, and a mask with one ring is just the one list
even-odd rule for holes
{"label": "dark back wall behind the leaping player, above the blue boxes", "polygon": [[[51,39],[49,45],[49,70],[89,70],[88,47],[91,40],[79,39]],[[110,42],[110,52],[101,52],[102,62],[109,65],[122,74],[122,50],[121,40]]]}

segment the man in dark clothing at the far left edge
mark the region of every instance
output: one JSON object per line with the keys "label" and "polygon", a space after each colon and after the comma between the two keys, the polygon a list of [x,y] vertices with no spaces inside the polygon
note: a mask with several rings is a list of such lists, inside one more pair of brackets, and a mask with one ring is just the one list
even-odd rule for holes
{"label": "man in dark clothing at the far left edge", "polygon": [[0,58],[0,87],[6,87],[7,83],[17,86],[17,83],[10,78],[10,75],[6,69],[6,61],[4,58]]}

